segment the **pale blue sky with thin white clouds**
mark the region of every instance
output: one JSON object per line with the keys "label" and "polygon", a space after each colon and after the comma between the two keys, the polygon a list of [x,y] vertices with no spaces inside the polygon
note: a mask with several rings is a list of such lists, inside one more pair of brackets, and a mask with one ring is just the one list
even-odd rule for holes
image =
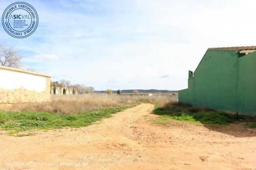
{"label": "pale blue sky with thin white clouds", "polygon": [[26,69],[96,90],[187,88],[208,47],[256,45],[255,0],[23,1],[36,31],[19,39],[0,26],[0,43]]}

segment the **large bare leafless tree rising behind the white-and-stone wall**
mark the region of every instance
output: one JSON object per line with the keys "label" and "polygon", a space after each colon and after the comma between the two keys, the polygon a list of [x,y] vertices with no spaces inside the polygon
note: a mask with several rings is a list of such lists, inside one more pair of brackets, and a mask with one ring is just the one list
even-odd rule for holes
{"label": "large bare leafless tree rising behind the white-and-stone wall", "polygon": [[0,44],[0,65],[6,67],[20,68],[22,56],[18,50],[4,47]]}

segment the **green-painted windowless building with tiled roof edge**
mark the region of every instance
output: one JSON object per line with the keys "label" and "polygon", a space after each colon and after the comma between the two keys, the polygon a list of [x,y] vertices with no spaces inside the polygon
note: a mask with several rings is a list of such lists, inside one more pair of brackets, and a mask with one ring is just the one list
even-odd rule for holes
{"label": "green-painted windowless building with tiled roof edge", "polygon": [[256,115],[256,46],[209,48],[179,102]]}

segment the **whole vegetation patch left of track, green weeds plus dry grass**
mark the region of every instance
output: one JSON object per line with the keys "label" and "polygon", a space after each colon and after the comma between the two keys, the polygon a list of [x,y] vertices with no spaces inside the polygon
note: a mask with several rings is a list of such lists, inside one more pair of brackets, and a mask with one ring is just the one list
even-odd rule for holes
{"label": "whole vegetation patch left of track, green weeds plus dry grass", "polygon": [[0,111],[0,129],[8,135],[24,136],[19,131],[89,126],[103,118],[141,102],[164,103],[173,95],[129,96],[116,94],[54,95],[50,103],[17,104],[12,111]]}

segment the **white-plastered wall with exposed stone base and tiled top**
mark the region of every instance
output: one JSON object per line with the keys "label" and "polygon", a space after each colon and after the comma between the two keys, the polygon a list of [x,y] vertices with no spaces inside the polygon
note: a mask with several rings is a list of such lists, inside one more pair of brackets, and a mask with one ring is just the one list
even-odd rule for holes
{"label": "white-plastered wall with exposed stone base and tiled top", "polygon": [[6,104],[50,102],[50,76],[0,66],[0,108]]}

